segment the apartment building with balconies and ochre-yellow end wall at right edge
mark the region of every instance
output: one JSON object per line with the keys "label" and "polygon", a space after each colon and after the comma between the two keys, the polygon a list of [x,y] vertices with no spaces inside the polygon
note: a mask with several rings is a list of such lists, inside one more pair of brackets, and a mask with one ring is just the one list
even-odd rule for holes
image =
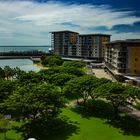
{"label": "apartment building with balconies and ochre-yellow end wall at right edge", "polygon": [[105,63],[115,75],[140,75],[140,40],[129,39],[108,43]]}

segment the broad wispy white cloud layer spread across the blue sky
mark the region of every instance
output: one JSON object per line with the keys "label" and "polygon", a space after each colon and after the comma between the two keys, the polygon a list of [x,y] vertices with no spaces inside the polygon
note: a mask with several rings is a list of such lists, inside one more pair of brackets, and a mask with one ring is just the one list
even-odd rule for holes
{"label": "broad wispy white cloud layer spread across the blue sky", "polygon": [[116,10],[108,5],[0,1],[0,40],[4,44],[45,45],[50,44],[50,31],[68,29],[90,33],[94,30],[89,29],[100,27],[109,31],[116,25],[133,25],[139,21],[134,11]]}

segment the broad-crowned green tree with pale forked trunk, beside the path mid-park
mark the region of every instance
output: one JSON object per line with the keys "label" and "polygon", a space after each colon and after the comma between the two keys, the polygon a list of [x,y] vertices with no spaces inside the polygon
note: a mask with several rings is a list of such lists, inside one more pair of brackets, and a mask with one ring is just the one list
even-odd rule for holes
{"label": "broad-crowned green tree with pale forked trunk, beside the path mid-park", "polygon": [[77,77],[70,80],[64,87],[64,94],[67,98],[75,97],[83,99],[84,105],[86,104],[91,92],[93,92],[93,86],[96,84],[97,78],[90,75],[85,75],[82,77]]}

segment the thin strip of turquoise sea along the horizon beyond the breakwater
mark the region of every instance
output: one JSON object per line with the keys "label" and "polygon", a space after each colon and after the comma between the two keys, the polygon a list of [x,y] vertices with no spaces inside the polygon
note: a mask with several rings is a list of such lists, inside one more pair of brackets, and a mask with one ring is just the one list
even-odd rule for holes
{"label": "thin strip of turquoise sea along the horizon beyond the breakwater", "polygon": [[48,52],[50,46],[0,46],[0,52],[10,51],[43,51]]}

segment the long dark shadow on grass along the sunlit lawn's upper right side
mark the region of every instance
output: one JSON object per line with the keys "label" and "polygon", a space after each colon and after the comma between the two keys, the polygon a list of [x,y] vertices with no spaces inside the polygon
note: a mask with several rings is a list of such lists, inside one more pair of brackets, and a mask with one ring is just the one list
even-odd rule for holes
{"label": "long dark shadow on grass along the sunlit lawn's upper right side", "polygon": [[72,111],[81,114],[84,118],[96,117],[104,120],[105,124],[119,128],[123,135],[140,136],[140,122],[126,115],[119,113],[119,118],[114,119],[114,109],[102,100],[89,100],[83,105],[72,108]]}

